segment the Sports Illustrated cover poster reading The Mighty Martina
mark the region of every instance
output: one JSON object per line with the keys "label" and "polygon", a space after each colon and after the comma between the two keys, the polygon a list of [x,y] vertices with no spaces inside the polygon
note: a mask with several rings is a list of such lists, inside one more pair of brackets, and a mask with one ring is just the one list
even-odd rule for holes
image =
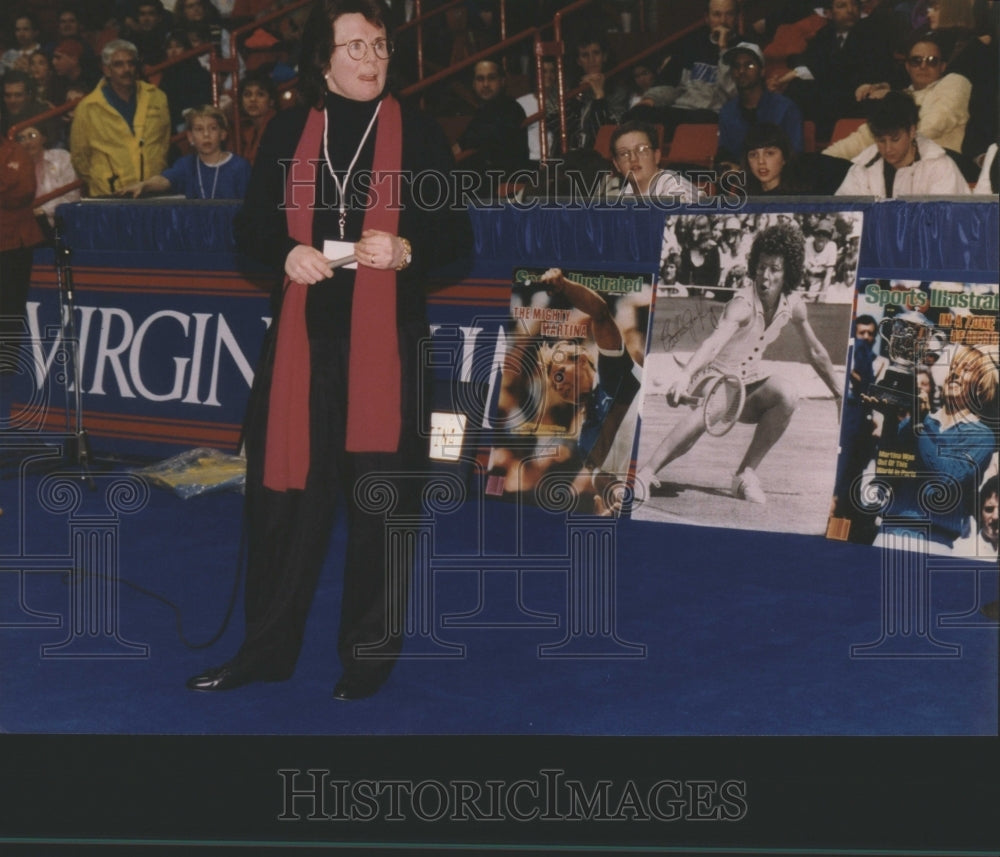
{"label": "Sports Illustrated cover poster reading The Mighty Martina", "polygon": [[519,267],[498,357],[487,496],[621,511],[635,442],[653,278]]}

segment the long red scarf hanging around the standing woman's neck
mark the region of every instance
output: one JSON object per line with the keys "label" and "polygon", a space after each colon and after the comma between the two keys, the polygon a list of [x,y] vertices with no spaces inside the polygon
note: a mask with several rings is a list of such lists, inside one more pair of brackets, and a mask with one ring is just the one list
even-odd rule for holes
{"label": "long red scarf hanging around the standing woman's neck", "polygon": [[[382,101],[375,129],[374,178],[364,228],[395,235],[399,207],[387,205],[401,166],[399,102]],[[323,142],[323,111],[310,110],[289,170],[288,234],[312,244],[316,199],[315,162]],[[294,184],[293,184],[294,177]],[[293,196],[295,190],[298,194]],[[264,484],[275,491],[304,488],[309,472],[309,286],[285,278],[268,405]],[[329,288],[319,286],[317,288]],[[396,334],[396,272],[358,265],[351,306],[351,352],[347,383],[348,452],[395,452],[402,427],[399,343]]]}

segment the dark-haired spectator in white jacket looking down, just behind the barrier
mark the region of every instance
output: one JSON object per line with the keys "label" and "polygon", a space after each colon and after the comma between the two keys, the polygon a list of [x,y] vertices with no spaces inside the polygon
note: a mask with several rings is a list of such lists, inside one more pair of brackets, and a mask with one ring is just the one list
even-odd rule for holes
{"label": "dark-haired spectator in white jacket looking down, just behind the barrier", "polygon": [[904,92],[888,93],[868,120],[875,142],[853,159],[837,196],[969,193],[969,184],[947,152],[917,133],[920,112]]}

